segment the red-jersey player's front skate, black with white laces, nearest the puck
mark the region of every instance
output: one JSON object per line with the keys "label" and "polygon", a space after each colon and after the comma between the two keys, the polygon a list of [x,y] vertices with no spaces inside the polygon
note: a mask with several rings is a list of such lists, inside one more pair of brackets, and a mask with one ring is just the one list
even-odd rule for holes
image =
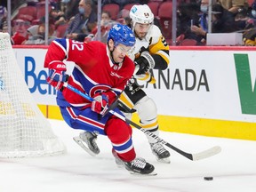
{"label": "red-jersey player's front skate, black with white laces, nearest the puck", "polygon": [[152,164],[148,164],[143,158],[135,158],[132,162],[125,162],[124,167],[132,174],[142,175],[156,175],[154,172],[155,167]]}

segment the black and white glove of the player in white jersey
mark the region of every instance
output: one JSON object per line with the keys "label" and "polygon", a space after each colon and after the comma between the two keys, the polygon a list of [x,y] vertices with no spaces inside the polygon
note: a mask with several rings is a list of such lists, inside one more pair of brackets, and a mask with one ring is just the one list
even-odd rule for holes
{"label": "black and white glove of the player in white jersey", "polygon": [[149,52],[141,52],[140,58],[134,61],[135,66],[139,66],[139,70],[136,72],[136,75],[145,74],[150,68],[155,67],[155,60],[149,54]]}

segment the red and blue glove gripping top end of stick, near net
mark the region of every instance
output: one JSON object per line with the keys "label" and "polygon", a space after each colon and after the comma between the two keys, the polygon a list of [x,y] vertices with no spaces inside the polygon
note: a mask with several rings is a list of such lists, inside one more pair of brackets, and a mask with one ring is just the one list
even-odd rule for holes
{"label": "red and blue glove gripping top end of stick, near net", "polygon": [[66,79],[66,65],[61,61],[52,62],[49,65],[49,76],[47,77],[48,84],[55,87],[56,90],[60,90]]}

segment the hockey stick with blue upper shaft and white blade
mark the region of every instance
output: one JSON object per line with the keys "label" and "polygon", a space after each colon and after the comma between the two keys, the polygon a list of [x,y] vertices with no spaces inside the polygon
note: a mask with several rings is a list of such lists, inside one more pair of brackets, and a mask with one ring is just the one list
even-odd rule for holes
{"label": "hockey stick with blue upper shaft and white blade", "polygon": [[[85,94],[84,92],[80,92],[79,90],[77,90],[75,87],[71,86],[68,83],[64,83],[63,85],[64,87],[68,88],[69,90],[76,92],[77,94],[79,94],[80,96],[84,97],[84,99],[86,100],[90,100],[93,101],[93,99]],[[162,143],[163,145],[167,146],[168,148],[172,148],[172,150],[176,151],[177,153],[179,153],[181,156],[185,156],[188,159],[190,159],[191,161],[197,161],[200,159],[204,159],[210,156],[215,156],[216,154],[219,154],[221,151],[221,148],[219,146],[215,146],[209,149],[206,149],[202,152],[196,153],[196,154],[190,154],[187,153],[183,150],[181,150],[180,148],[176,148],[173,145],[171,145],[170,143],[168,143],[165,140],[160,139],[156,134],[152,133],[152,132],[148,132],[148,130],[143,129],[139,124],[135,124],[134,122],[132,122],[130,119],[125,118],[124,116],[121,116],[120,114],[116,113],[113,110],[109,110],[109,113],[111,113],[112,115],[122,119],[123,121],[125,121],[127,124],[131,124],[132,126],[134,126],[135,128],[139,129],[141,132],[144,132],[145,134],[147,134],[149,137],[152,137],[153,139],[157,140],[158,142]]]}

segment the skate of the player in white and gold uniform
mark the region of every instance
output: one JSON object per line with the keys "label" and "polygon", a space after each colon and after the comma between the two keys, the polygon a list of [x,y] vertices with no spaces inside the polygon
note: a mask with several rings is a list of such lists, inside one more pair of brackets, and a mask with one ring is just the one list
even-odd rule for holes
{"label": "skate of the player in white and gold uniform", "polygon": [[161,143],[150,143],[152,153],[156,156],[156,160],[165,164],[170,164],[170,153]]}

